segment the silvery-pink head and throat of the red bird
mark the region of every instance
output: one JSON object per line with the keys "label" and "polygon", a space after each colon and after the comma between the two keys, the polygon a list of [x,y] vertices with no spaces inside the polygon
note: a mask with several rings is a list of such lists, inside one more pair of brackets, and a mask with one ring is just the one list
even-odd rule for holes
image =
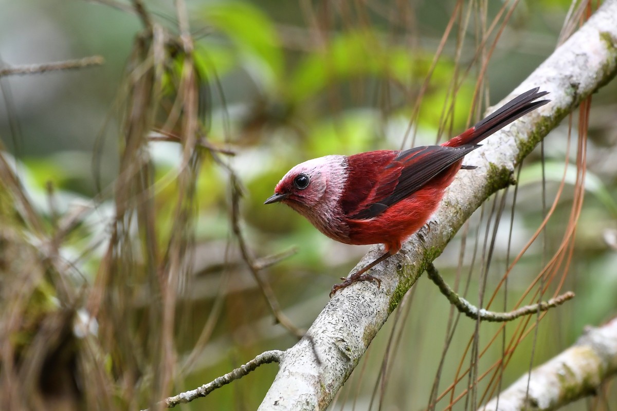
{"label": "silvery-pink head and throat of the red bird", "polygon": [[339,202],[347,181],[347,157],[326,155],[304,161],[283,176],[276,185],[276,192],[293,184],[293,179],[299,174],[309,176],[309,185],[304,190],[297,190],[296,198],[284,202],[302,214],[323,234],[346,242],[347,226],[339,210]]}

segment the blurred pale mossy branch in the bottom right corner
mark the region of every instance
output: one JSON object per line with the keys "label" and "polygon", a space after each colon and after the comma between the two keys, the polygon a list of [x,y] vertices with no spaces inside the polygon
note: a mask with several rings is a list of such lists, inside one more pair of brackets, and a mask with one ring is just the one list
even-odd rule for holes
{"label": "blurred pale mossy branch in the bottom right corner", "polygon": [[[589,327],[576,344],[521,376],[479,411],[548,411],[595,394],[617,373],[617,319]],[[499,408],[497,408],[499,405]]]}

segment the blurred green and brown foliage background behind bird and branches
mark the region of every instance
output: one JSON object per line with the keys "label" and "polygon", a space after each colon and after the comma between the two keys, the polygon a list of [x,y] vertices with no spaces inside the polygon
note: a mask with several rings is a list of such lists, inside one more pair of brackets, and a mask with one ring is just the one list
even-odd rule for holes
{"label": "blurred green and brown foliage background behind bird and branches", "polygon": [[[90,369],[84,364],[90,364],[106,381],[101,386],[107,399],[75,394],[94,384],[82,380],[62,391],[79,398],[62,402],[77,409],[144,408],[207,383],[262,351],[292,346],[294,327],[312,324],[331,285],[368,247],[336,243],[290,209],[264,206],[278,179],[321,155],[449,139],[507,96],[592,11],[586,3],[566,0],[188,1],[194,115],[197,135],[207,143],[187,160],[186,126],[176,121],[191,108],[178,109],[178,101],[186,104],[188,96],[181,89],[188,57],[181,51],[178,10],[171,1],[144,2],[154,33],[159,28],[165,33],[165,64],[158,76],[152,63],[158,61],[157,43],[144,34],[143,18],[132,6],[0,0],[2,66],[90,55],[105,59],[79,70],[0,78],[1,148],[14,160],[43,227],[34,240],[24,237],[36,247],[46,235],[59,238],[54,235],[63,219],[75,219],[56,250],[70,275],[60,275],[61,281],[43,275],[46,287],[35,282],[31,291],[42,293],[46,312],[70,307],[88,319],[88,336],[73,341],[71,352],[90,344],[91,355],[77,356],[69,368],[83,376]],[[148,195],[143,200],[144,192],[126,188],[123,195],[141,200],[126,214],[135,212],[135,218],[123,219],[120,230],[117,187],[129,169],[136,78],[149,65],[159,88],[147,133],[157,130],[163,137],[148,134],[152,138],[141,140],[135,151],[147,157]],[[493,307],[499,311],[512,309],[520,298],[524,304],[537,301],[540,290],[542,299],[557,290],[573,290],[576,299],[539,322],[533,317],[505,328],[482,324],[471,343],[475,322],[456,320],[447,300],[421,278],[331,409],[475,409],[498,386],[574,343],[586,325],[615,315],[616,110],[613,81],[594,94],[589,113],[574,113],[549,134],[525,161],[516,189],[487,201],[435,262],[472,303],[484,290],[486,306],[495,291]],[[176,120],[170,120],[173,115]],[[587,134],[578,132],[581,118],[589,124]],[[181,189],[189,185],[178,182],[185,169],[193,173],[189,194]],[[582,169],[584,182],[577,178]],[[142,219],[144,203],[152,214]],[[184,215],[178,210],[190,214],[182,230],[175,225]],[[537,240],[500,284],[536,230]],[[183,238],[177,250],[175,235]],[[176,261],[181,274],[173,283],[159,279],[153,286],[152,279],[175,264],[170,250],[182,258]],[[280,253],[286,258],[275,258],[274,265],[264,260]],[[268,291],[255,280],[247,258],[253,267],[265,267],[257,274],[293,327],[276,324]],[[113,271],[112,261],[128,274]],[[57,290],[59,282],[75,290],[70,303]],[[531,293],[524,294],[528,287]],[[9,303],[5,300],[4,307]],[[19,312],[33,312],[32,304],[38,303],[29,299]],[[161,307],[173,307],[168,322],[157,320]],[[33,325],[28,331],[35,335],[35,330]],[[449,333],[452,342],[444,354]],[[13,348],[17,357],[27,352],[26,341]],[[161,346],[167,347],[165,357]],[[476,358],[470,346],[482,352],[477,368],[471,367],[477,384],[465,371]],[[507,367],[492,378],[503,352],[508,352]],[[165,368],[168,380],[156,383],[159,368],[153,364],[162,358],[172,365]],[[43,391],[52,392],[44,378],[49,370],[40,371]],[[255,409],[275,374],[276,365],[265,365],[184,407]],[[460,382],[450,387],[455,380]],[[474,388],[466,391],[468,385]],[[616,400],[607,386],[595,399],[565,409],[608,409]]]}

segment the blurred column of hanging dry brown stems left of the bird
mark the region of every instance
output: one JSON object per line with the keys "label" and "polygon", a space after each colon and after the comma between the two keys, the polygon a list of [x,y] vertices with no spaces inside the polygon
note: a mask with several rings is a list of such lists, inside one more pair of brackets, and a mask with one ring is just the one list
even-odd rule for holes
{"label": "blurred column of hanging dry brown stems left of the bird", "polygon": [[[152,404],[170,389],[176,370],[175,332],[178,296],[188,286],[191,271],[193,218],[196,214],[196,181],[202,150],[199,134],[198,94],[200,80],[193,62],[193,44],[186,35],[176,38],[152,20],[144,4],[134,1],[146,26],[138,36],[128,63],[125,123],[120,172],[115,184],[116,217],[107,254],[102,261],[89,307],[99,315],[101,341],[112,353],[114,378],[125,381],[123,401],[130,407],[143,404],[135,389],[144,390]],[[186,10],[178,4],[178,21],[186,22]],[[181,59],[173,71],[172,54]],[[163,91],[169,81],[173,92]],[[170,110],[167,101],[171,101]],[[162,119],[162,120],[160,120]],[[167,201],[172,224],[160,229],[161,214],[155,197],[154,165],[149,158],[149,136],[157,123],[182,136],[181,161],[173,183],[174,198]],[[138,232],[138,238],[133,233]],[[142,311],[135,299],[137,289],[149,293]],[[123,330],[118,333],[117,330]],[[131,386],[143,379],[142,383]]]}

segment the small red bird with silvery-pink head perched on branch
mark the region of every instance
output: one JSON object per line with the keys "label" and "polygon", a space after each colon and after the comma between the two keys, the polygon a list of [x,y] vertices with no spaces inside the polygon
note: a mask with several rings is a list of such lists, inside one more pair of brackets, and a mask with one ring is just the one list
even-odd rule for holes
{"label": "small red bird with silvery-pink head perched on branch", "polygon": [[408,150],[376,150],[350,156],[326,155],[294,166],[264,204],[283,203],[323,234],[341,243],[382,243],[375,261],[333,285],[330,296],[355,282],[381,280],[366,274],[431,218],[478,143],[521,116],[547,104],[547,91],[535,87],[504,104],[471,128],[441,145]]}

